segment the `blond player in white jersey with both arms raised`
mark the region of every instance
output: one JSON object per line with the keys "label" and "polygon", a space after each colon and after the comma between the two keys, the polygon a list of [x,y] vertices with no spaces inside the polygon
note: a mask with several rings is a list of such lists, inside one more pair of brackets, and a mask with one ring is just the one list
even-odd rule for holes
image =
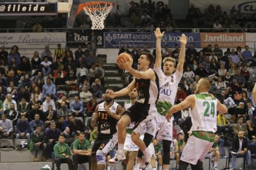
{"label": "blond player in white jersey with both arms raised", "polygon": [[[164,32],[161,33],[160,28],[156,28],[156,62],[154,70],[160,81],[160,94],[158,102],[156,103],[156,109],[159,114],[151,121],[150,126],[145,132],[145,138],[155,136],[159,129],[156,139],[163,140],[163,169],[166,170],[169,169],[170,164],[170,145],[171,140],[173,139],[173,118],[171,118],[171,123],[168,123],[164,116],[166,111],[174,105],[177,87],[182,78],[187,38],[182,34],[179,39],[179,42],[181,43],[181,51],[179,53],[179,63],[177,64],[177,67],[175,68],[175,59],[166,57],[163,60],[162,71],[161,38],[163,35]],[[176,70],[175,73],[173,73],[174,70]],[[139,151],[138,157],[140,158],[141,156],[142,153]],[[144,166],[143,163],[140,166],[140,168],[145,167],[146,166]]]}

